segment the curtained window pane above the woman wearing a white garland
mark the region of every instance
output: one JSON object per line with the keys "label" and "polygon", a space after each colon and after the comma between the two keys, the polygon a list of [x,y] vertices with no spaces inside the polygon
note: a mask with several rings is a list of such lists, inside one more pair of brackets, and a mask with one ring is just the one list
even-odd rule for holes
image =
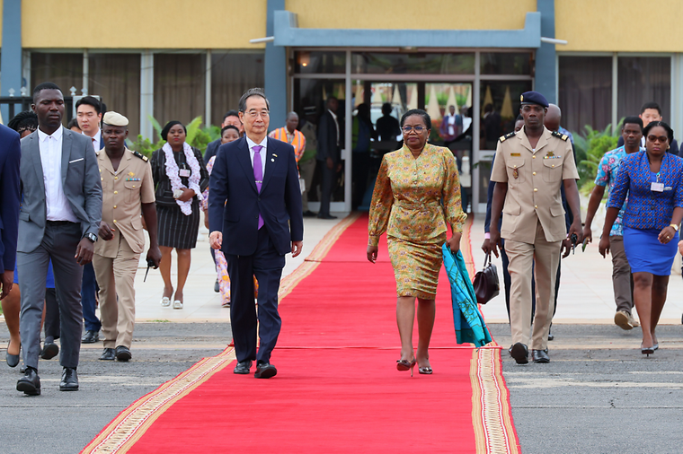
{"label": "curtained window pane above the woman wearing a white garland", "polygon": [[155,54],[155,118],[183,125],[204,116],[205,54]]}

